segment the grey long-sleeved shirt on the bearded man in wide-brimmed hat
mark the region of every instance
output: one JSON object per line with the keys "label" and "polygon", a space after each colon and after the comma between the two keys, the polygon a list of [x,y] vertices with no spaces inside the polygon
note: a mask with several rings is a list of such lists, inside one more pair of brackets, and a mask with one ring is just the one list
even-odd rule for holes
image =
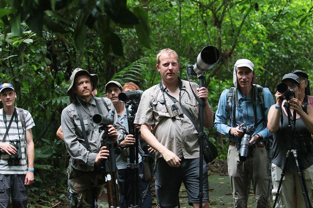
{"label": "grey long-sleeved shirt on the bearded man in wide-brimmed hat", "polygon": [[[95,158],[98,152],[100,151],[101,138],[102,135],[104,134],[104,130],[99,132],[100,126],[95,125],[94,123],[92,123],[91,120],[90,115],[99,113],[98,109],[96,108],[95,102],[99,104],[102,113],[104,115],[107,115],[108,111],[100,98],[92,97],[88,103],[80,99],[80,103],[85,109],[85,110],[82,109],[82,106],[80,106],[80,111],[83,117],[83,123],[85,126],[91,152],[86,149],[85,139],[83,137],[81,123],[78,117],[75,104],[68,105],[62,111],[61,116],[62,131],[64,135],[65,146],[67,148],[67,151],[69,152],[69,155],[71,156],[70,163],[75,169],[81,171],[94,170]],[[119,122],[116,110],[110,99],[105,98],[105,102],[107,103],[109,109],[114,109],[115,111],[114,127],[118,132],[117,139],[120,139],[124,136],[125,133],[124,127]],[[88,113],[86,113],[86,111]]]}

